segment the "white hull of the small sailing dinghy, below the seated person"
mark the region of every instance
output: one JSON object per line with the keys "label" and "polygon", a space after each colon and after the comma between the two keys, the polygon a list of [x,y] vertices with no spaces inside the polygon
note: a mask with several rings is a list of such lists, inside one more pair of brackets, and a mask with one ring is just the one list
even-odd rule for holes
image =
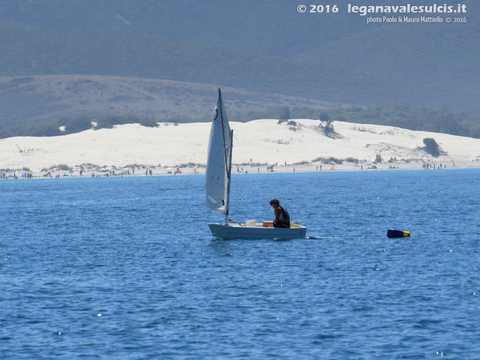
{"label": "white hull of the small sailing dinghy, below the seated person", "polygon": [[307,227],[292,224],[289,228],[263,227],[262,224],[245,226],[239,224],[209,223],[213,236],[221,238],[246,239],[294,239],[305,237]]}

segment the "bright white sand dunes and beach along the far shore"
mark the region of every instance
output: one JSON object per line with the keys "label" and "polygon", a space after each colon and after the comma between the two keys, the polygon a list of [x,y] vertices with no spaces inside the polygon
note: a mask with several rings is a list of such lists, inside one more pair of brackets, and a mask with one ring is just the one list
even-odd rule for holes
{"label": "bright white sand dunes and beach along the far shore", "polygon": [[[480,139],[443,133],[412,131],[392,126],[332,122],[327,136],[318,120],[295,119],[296,125],[276,119],[230,122],[233,129],[233,171],[316,171],[480,166]],[[83,176],[108,169],[118,173],[203,173],[211,123],[160,123],[117,125],[112,129],[86,130],[54,137],[10,137],[0,140],[0,169],[5,173],[31,172],[41,177],[47,170],[63,176]],[[419,146],[431,137],[444,154],[432,157]],[[374,163],[376,155],[382,161]],[[339,163],[341,162],[341,163]],[[59,166],[60,165],[60,166]]]}

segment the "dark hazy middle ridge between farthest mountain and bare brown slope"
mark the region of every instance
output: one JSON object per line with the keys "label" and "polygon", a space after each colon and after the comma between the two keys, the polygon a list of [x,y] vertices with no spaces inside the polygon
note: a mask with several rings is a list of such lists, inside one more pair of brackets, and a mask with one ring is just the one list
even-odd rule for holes
{"label": "dark hazy middle ridge between farthest mountain and bare brown slope", "polygon": [[[0,76],[101,74],[221,84],[354,104],[457,99],[435,88],[342,68],[160,37],[0,28]],[[461,102],[466,103],[467,99]]]}

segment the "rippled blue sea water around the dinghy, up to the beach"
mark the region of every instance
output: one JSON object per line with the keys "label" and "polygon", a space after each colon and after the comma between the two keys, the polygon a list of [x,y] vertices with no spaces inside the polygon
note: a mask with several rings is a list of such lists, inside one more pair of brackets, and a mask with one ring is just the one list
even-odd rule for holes
{"label": "rippled blue sea water around the dinghy, up to the beach", "polygon": [[[480,169],[0,181],[2,359],[480,358]],[[411,237],[386,238],[388,228]]]}

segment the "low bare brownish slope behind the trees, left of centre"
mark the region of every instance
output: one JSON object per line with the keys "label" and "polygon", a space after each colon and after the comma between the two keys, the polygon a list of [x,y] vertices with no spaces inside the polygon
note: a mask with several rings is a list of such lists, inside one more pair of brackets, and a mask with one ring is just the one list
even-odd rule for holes
{"label": "low bare brownish slope behind the trees, left of centre", "polygon": [[[211,116],[217,86],[138,77],[35,75],[0,78],[2,124],[81,114],[143,114],[157,118]],[[222,87],[230,113],[274,106],[331,108],[335,104],[234,87]],[[25,106],[25,104],[29,104]],[[1,126],[0,126],[1,127]]]}

